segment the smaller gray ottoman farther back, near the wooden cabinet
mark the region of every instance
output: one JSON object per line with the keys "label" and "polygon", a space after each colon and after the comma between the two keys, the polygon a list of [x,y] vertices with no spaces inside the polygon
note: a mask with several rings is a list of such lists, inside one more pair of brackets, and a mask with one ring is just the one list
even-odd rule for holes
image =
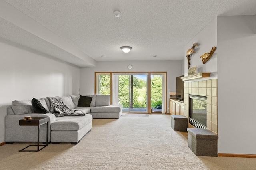
{"label": "smaller gray ottoman farther back, near the wooden cabinet", "polygon": [[171,127],[173,130],[186,132],[188,128],[188,118],[184,115],[171,115]]}

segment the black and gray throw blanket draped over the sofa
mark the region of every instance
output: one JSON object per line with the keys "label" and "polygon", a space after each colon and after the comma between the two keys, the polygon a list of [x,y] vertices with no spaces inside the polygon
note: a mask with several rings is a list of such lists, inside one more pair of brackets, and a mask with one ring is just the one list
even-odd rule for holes
{"label": "black and gray throw blanket draped over the sofa", "polygon": [[50,113],[56,117],[61,116],[84,116],[85,113],[78,110],[69,109],[60,97],[47,97],[50,102]]}

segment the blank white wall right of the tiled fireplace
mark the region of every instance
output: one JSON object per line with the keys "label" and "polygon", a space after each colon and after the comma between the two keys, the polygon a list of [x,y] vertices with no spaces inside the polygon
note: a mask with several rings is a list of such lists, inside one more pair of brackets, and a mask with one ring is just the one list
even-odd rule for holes
{"label": "blank white wall right of the tiled fireplace", "polygon": [[218,17],[218,152],[256,154],[255,16]]}

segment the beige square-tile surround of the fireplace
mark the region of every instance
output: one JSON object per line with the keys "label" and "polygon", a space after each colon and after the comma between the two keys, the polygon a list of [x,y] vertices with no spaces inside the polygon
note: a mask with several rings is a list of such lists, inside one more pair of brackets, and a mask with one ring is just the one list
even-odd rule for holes
{"label": "beige square-tile surround of the fireplace", "polygon": [[[184,115],[186,117],[189,117],[189,94],[207,97],[207,129],[215,134],[218,134],[217,79],[184,83]],[[189,128],[191,127],[192,125],[189,125]]]}

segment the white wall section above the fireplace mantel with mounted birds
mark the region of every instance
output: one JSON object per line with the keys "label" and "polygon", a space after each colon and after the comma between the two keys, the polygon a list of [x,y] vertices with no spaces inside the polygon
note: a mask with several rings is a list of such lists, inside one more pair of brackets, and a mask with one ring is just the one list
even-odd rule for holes
{"label": "white wall section above the fireplace mantel with mounted birds", "polygon": [[[192,40],[190,40],[184,48],[184,74],[188,75],[188,59],[186,57],[186,52],[190,49],[194,43],[198,43],[199,46],[194,48],[196,53],[193,53],[190,57],[190,67],[197,66],[196,73],[207,73],[210,72],[210,78],[208,79],[217,79],[217,18],[212,20],[201,32],[199,32]],[[205,63],[202,63],[201,55],[204,53],[209,53],[212,47],[216,47],[216,50],[212,57]],[[200,79],[203,80],[203,79]]]}

